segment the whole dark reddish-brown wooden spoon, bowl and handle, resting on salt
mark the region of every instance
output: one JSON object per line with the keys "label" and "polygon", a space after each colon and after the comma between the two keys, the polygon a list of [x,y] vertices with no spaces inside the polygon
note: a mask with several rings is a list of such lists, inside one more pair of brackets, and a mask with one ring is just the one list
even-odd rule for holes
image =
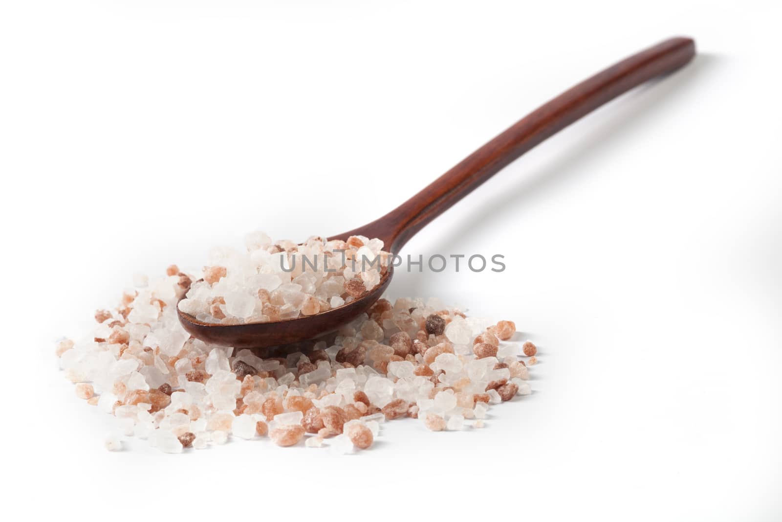
{"label": "whole dark reddish-brown wooden spoon, bowl and handle, resting on salt", "polygon": [[[367,225],[329,239],[345,240],[357,235],[376,237],[385,243],[384,250],[398,253],[429,221],[523,153],[623,92],[683,67],[693,56],[695,42],[691,38],[670,38],[608,67],[518,121],[400,207]],[[317,315],[278,322],[222,325],[201,322],[178,311],[179,320],[192,336],[211,344],[263,348],[297,343],[333,332],[363,314],[386,291],[392,275],[393,268],[389,266],[375,289],[355,301]]]}

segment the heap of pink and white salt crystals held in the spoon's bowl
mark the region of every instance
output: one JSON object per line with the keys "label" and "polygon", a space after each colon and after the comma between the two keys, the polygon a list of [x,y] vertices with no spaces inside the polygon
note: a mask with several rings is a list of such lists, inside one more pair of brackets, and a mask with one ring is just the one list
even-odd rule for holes
{"label": "heap of pink and white salt crystals held in the spoon's bowl", "polygon": [[338,308],[375,288],[389,254],[380,239],[311,237],[272,243],[246,236],[245,252],[213,249],[203,277],[192,279],[181,311],[204,322],[245,324],[295,319]]}

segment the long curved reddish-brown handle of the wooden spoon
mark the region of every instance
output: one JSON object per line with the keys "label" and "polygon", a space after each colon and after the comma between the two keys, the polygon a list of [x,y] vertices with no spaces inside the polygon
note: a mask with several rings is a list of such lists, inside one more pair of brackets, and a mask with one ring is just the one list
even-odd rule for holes
{"label": "long curved reddish-brown handle of the wooden spoon", "polygon": [[683,67],[693,56],[691,38],[670,38],[623,59],[540,106],[389,214],[335,239],[377,237],[385,250],[398,253],[429,221],[523,153],[644,81]]}

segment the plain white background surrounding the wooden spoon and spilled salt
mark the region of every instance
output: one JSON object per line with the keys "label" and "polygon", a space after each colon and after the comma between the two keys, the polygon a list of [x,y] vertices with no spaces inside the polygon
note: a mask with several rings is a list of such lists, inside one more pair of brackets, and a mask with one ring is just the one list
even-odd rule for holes
{"label": "plain white background surrounding the wooden spoon and spilled salt", "polygon": [[[4,2],[2,510],[78,520],[780,520],[778,2]],[[394,297],[514,319],[533,395],[486,430],[387,424],[109,453],[56,371],[134,272],[396,207],[540,103],[686,34],[686,70],[506,168],[403,254]],[[436,519],[439,520],[439,519]]]}

